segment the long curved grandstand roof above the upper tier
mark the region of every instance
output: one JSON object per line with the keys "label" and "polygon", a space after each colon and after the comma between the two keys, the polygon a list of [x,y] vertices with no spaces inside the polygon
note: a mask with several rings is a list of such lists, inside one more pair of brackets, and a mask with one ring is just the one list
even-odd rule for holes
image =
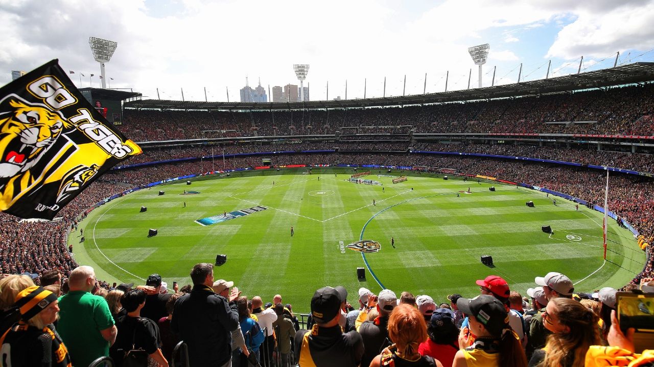
{"label": "long curved grandstand roof above the upper tier", "polygon": [[625,84],[654,81],[654,63],[632,63],[611,69],[570,74],[557,78],[531,80],[503,86],[463,89],[442,93],[407,95],[405,97],[386,97],[369,99],[347,99],[339,101],[308,101],[292,103],[244,103],[244,102],[198,102],[198,101],[161,101],[146,99],[131,101],[126,108],[156,108],[172,110],[300,110],[317,108],[357,108],[375,106],[398,106],[407,104],[448,103],[458,101],[475,101],[542,95],[581,89],[621,86]]}

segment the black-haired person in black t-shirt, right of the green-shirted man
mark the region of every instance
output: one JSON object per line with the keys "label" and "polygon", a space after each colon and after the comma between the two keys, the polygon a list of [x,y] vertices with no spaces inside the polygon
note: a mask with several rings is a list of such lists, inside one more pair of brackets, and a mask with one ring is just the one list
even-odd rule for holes
{"label": "black-haired person in black t-shirt, right of the green-shirted man", "polygon": [[[109,350],[111,358],[118,367],[122,366],[126,353],[131,349],[143,349],[148,353],[148,359],[154,360],[159,366],[168,367],[168,361],[163,357],[160,349],[159,327],[147,317],[141,317],[145,298],[143,289],[134,289],[120,298],[120,304],[127,311],[127,315],[118,319],[116,323],[118,337]],[[152,362],[148,362],[149,364]]]}

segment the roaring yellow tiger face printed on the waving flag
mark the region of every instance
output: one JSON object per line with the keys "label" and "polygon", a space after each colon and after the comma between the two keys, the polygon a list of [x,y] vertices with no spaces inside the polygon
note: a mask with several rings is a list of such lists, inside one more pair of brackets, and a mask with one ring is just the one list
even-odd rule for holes
{"label": "roaring yellow tiger face printed on the waving flag", "polygon": [[71,125],[58,114],[16,99],[9,116],[0,116],[0,186],[33,167]]}

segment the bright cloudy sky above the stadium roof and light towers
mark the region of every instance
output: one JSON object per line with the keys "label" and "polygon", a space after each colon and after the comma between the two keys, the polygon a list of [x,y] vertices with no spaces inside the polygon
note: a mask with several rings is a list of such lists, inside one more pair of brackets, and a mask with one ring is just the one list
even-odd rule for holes
{"label": "bright cloudy sky above the stadium roof and light towers", "polygon": [[[144,98],[236,101],[249,77],[298,84],[311,65],[311,99],[381,97],[477,85],[468,47],[490,44],[483,85],[654,61],[652,0],[200,1],[0,0],[0,86],[10,71],[58,58],[77,86],[99,86],[88,37],[115,40],[111,88]],[[86,77],[81,78],[80,73]],[[95,76],[89,79],[88,76]]]}

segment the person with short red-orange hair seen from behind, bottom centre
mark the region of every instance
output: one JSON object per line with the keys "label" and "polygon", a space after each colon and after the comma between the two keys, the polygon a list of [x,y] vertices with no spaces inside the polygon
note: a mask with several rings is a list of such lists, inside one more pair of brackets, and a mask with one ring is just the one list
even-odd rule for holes
{"label": "person with short red-orange hair seen from behind, bottom centre", "polygon": [[418,353],[419,345],[428,338],[427,325],[422,313],[409,304],[400,304],[390,313],[388,338],[393,344],[374,357],[370,367],[443,367],[438,360]]}

